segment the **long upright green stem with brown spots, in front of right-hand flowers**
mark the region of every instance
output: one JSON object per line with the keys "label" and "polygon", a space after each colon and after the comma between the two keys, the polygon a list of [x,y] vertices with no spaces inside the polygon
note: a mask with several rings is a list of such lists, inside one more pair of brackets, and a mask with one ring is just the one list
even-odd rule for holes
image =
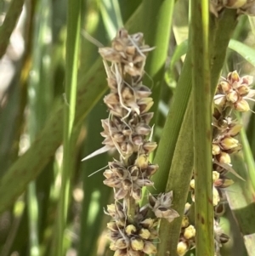
{"label": "long upright green stem with brown spots, in front of right-hand flowers", "polygon": [[195,175],[195,248],[197,256],[214,255],[212,205],[212,96],[209,55],[209,6],[191,1],[192,88]]}

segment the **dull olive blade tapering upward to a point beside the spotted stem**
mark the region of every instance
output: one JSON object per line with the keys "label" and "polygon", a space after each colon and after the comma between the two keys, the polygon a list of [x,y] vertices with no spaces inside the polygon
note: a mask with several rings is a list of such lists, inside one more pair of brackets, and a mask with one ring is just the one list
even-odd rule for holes
{"label": "dull olive blade tapering upward to a point beside the spotted stem", "polygon": [[[191,170],[193,167],[193,115],[192,102],[190,100],[187,111],[184,116],[184,123],[178,135],[178,141],[174,151],[171,171],[169,173],[166,191],[173,191],[173,208],[178,213],[184,212],[184,204],[187,200],[188,189],[190,186]],[[173,171],[172,171],[173,170]],[[176,248],[178,243],[179,231],[182,218],[177,218],[172,223],[167,220],[161,220],[160,226],[160,240],[158,245],[158,254],[164,255],[170,252],[170,255],[176,255]]]}

